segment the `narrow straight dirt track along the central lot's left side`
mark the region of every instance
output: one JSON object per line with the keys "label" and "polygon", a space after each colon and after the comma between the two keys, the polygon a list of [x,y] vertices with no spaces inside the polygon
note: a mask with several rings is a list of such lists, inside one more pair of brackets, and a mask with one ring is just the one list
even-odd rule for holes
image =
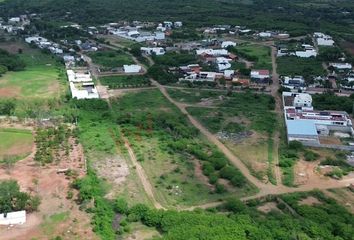
{"label": "narrow straight dirt track along the central lot's left side", "polygon": [[157,209],[165,209],[155,198],[154,195],[154,190],[153,187],[143,169],[143,167],[140,165],[140,163],[138,162],[138,160],[136,159],[136,156],[134,154],[133,149],[130,146],[130,143],[128,141],[128,139],[124,136],[122,136],[123,141],[124,141],[124,145],[128,150],[128,154],[130,159],[133,162],[133,166],[135,167],[135,170],[139,176],[139,179],[141,181],[141,183],[143,184],[144,190],[146,192],[146,194],[148,195],[148,197],[150,198],[150,200],[152,201],[152,203],[154,204],[154,207]]}

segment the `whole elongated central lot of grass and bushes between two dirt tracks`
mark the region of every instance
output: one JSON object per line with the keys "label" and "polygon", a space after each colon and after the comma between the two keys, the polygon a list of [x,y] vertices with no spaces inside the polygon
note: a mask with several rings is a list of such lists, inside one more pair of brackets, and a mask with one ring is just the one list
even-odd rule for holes
{"label": "whole elongated central lot of grass and bushes between two dirt tracks", "polygon": [[243,177],[226,179],[227,171],[235,171],[233,177],[240,173],[157,90],[124,95],[112,107],[163,206],[198,205],[254,191]]}

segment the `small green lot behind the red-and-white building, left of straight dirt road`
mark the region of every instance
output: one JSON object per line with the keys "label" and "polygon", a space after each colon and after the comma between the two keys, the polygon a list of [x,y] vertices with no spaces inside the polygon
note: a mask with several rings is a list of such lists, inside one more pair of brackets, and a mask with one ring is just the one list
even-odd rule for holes
{"label": "small green lot behind the red-and-white building, left of straight dirt road", "polygon": [[244,44],[236,47],[236,53],[254,62],[255,69],[272,70],[272,58],[269,47],[255,44]]}

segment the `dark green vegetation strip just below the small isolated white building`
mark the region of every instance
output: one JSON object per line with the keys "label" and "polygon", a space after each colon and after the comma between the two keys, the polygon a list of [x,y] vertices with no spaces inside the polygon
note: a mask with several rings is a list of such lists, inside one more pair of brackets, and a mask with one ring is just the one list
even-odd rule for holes
{"label": "dark green vegetation strip just below the small isolated white building", "polygon": [[102,85],[110,89],[150,86],[151,82],[146,76],[109,76],[101,77]]}

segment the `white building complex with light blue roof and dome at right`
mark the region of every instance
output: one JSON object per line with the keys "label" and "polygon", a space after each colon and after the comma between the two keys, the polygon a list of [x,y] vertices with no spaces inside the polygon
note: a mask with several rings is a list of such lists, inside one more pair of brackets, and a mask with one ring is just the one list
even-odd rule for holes
{"label": "white building complex with light blue roof and dome at right", "polygon": [[288,141],[318,146],[321,137],[354,135],[352,121],[346,112],[316,111],[307,93],[283,92],[284,117]]}

